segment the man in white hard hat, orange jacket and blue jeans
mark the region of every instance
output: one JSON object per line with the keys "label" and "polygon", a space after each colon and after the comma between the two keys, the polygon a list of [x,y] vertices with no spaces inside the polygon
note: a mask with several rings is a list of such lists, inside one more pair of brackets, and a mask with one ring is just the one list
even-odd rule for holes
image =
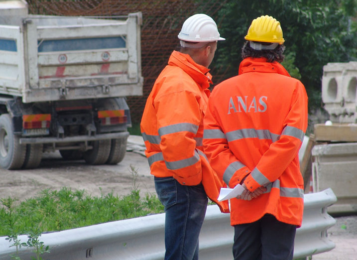
{"label": "man in white hard hat, orange jacket and blue jeans", "polygon": [[198,237],[208,199],[218,202],[223,185],[203,153],[211,64],[220,37],[216,22],[195,14],[178,35],[173,51],[147,99],[141,120],[146,156],[155,188],[165,208],[165,260],[198,259]]}

